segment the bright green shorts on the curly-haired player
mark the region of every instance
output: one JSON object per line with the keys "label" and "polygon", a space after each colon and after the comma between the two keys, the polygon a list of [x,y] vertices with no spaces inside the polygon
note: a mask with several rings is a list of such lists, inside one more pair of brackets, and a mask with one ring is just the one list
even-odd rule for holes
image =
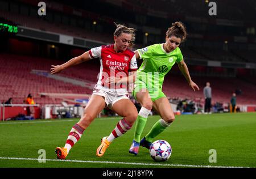
{"label": "bright green shorts on the curly-haired player", "polygon": [[149,95],[151,97],[151,100],[154,102],[155,100],[160,99],[161,97],[166,97],[166,95],[164,95],[162,88],[150,88],[147,86],[146,83],[142,82],[141,80],[136,80],[135,84],[134,84],[134,90],[133,90],[133,97],[135,100],[136,99],[136,95],[137,92],[146,92],[146,90],[149,92]]}

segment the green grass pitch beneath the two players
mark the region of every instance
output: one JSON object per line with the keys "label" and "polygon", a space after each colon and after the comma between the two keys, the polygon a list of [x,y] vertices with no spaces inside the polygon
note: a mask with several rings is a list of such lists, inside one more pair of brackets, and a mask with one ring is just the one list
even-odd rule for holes
{"label": "green grass pitch beneath the two players", "polygon": [[[153,161],[146,148],[138,156],[129,154],[134,128],[114,140],[103,157],[96,156],[102,137],[109,135],[119,121],[97,118],[85,130],[67,157],[56,160],[55,148],[64,146],[71,127],[79,119],[0,122],[0,167],[256,167],[256,113],[184,115],[157,139],[172,146],[168,161]],[[144,129],[159,120],[149,117]],[[46,163],[39,163],[39,150],[46,151]],[[216,163],[210,163],[216,150]],[[9,157],[9,158],[8,158]]]}

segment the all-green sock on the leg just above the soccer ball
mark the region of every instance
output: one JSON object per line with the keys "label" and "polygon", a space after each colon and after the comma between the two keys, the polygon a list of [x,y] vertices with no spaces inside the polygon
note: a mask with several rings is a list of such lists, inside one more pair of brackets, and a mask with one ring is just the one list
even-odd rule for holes
{"label": "all-green sock on the leg just above the soccer ball", "polygon": [[164,121],[163,119],[160,119],[159,121],[157,121],[154,126],[151,128],[151,130],[149,131],[149,133],[145,136],[146,140],[148,142],[152,142],[153,139],[158,136],[160,133],[162,133],[164,131],[164,129],[166,129],[166,127],[170,126],[171,123],[168,123],[166,121]]}

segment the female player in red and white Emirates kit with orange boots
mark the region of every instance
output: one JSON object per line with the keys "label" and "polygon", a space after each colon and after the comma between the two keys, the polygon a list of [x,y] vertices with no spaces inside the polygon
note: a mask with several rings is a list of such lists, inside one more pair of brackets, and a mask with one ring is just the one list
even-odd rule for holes
{"label": "female player in red and white Emirates kit with orange boots", "polygon": [[[100,58],[101,68],[98,82],[84,110],[84,116],[71,129],[64,147],[57,147],[58,159],[65,159],[69,150],[81,138],[84,130],[97,117],[105,106],[108,106],[122,120],[117,123],[108,137],[101,139],[101,145],[96,151],[97,156],[104,155],[106,148],[113,140],[126,133],[135,122],[138,112],[130,101],[127,83],[135,81],[137,61],[135,54],[129,48],[135,40],[135,29],[117,25],[114,32],[114,44],[102,45],[90,49],[81,56],[70,59],[62,65],[52,65],[51,74],[57,74],[68,67],[78,65],[89,59]],[[130,72],[130,76],[129,76]],[[114,83],[113,83],[114,80]]]}

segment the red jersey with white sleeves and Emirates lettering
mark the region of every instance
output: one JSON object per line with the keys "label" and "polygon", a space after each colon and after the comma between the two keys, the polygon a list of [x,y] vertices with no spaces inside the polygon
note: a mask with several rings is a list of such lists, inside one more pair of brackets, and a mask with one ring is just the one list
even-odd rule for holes
{"label": "red jersey with white sleeves and Emirates lettering", "polygon": [[[89,50],[90,58],[100,58],[101,69],[97,84],[110,88],[104,84],[105,80],[110,76],[126,77],[129,71],[138,69],[135,53],[130,49],[117,53],[114,50],[114,44],[102,45]],[[121,84],[115,88],[126,88],[125,84]]]}

